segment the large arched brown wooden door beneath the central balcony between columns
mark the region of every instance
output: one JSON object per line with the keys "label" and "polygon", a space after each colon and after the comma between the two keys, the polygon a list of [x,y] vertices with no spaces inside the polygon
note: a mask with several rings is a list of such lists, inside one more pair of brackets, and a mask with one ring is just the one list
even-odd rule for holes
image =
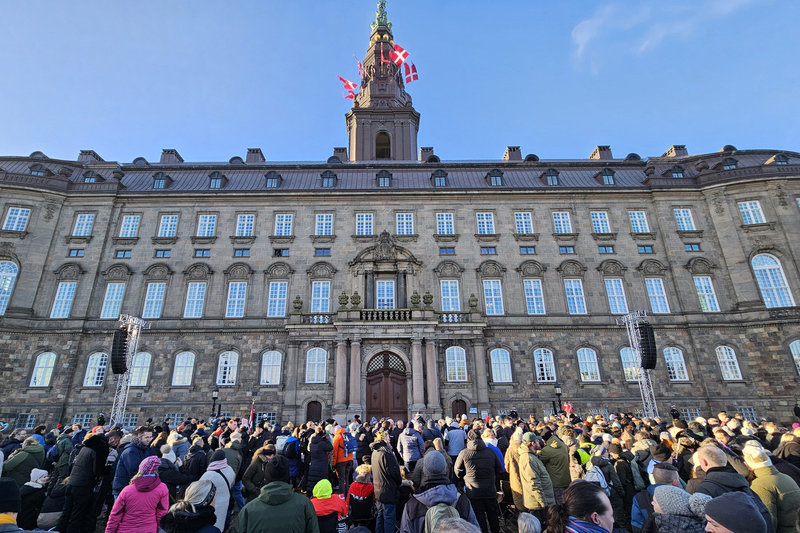
{"label": "large arched brown wooden door beneath the central balcony between columns", "polygon": [[408,416],[406,365],[393,353],[379,353],[367,365],[367,418]]}

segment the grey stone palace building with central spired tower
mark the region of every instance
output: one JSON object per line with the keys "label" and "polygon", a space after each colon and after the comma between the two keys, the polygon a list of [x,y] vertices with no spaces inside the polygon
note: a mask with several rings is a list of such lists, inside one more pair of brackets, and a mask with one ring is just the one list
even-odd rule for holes
{"label": "grey stone palace building with central spired tower", "polygon": [[788,420],[800,380],[800,153],[493,161],[418,147],[382,7],[347,148],[271,162],[0,157],[0,418],[127,425],[641,407],[617,319],[644,310],[663,412]]}

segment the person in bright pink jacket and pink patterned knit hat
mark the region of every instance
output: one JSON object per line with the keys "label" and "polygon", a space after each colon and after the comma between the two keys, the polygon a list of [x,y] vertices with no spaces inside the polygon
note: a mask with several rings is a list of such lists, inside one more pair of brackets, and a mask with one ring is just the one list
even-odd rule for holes
{"label": "person in bright pink jacket and pink patterned knit hat", "polygon": [[161,459],[147,457],[139,463],[139,472],[122,489],[111,514],[106,533],[156,533],[158,524],[169,511],[169,489],[158,479]]}

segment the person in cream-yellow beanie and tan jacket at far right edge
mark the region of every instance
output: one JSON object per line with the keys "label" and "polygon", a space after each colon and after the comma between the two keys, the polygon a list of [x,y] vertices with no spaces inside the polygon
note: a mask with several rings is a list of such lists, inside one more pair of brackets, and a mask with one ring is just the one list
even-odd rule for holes
{"label": "person in cream-yellow beanie and tan jacket at far right edge", "polygon": [[772,526],[778,533],[794,533],[800,509],[800,487],[792,478],[778,472],[760,447],[745,446],[744,461],[755,476],[750,488],[769,509]]}

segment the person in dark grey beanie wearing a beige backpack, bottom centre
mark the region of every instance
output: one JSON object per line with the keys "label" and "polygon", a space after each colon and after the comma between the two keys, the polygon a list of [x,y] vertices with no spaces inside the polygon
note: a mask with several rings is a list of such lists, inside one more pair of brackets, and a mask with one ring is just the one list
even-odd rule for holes
{"label": "person in dark grey beanie wearing a beige backpack, bottom centre", "polygon": [[478,526],[469,498],[451,482],[442,454],[427,453],[420,463],[422,485],[403,510],[400,533],[434,533],[439,522],[447,518],[463,518]]}

